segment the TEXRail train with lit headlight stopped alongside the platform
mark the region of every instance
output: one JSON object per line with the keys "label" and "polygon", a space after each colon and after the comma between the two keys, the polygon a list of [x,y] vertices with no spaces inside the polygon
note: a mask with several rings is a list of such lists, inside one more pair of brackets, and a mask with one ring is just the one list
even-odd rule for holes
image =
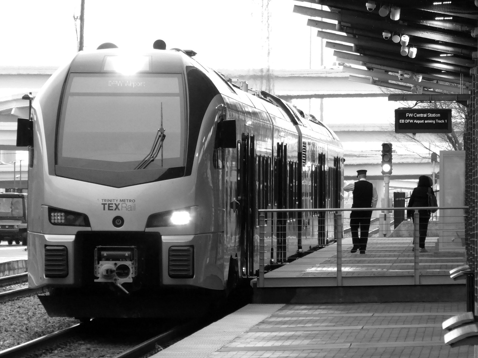
{"label": "TEXRail train with lit headlight stopped alongside the platform", "polygon": [[[194,54],[79,52],[19,118],[28,282],[48,288],[39,298],[50,316],[203,312],[257,274],[259,209],[341,207],[337,136]],[[331,216],[305,216],[294,220],[314,239],[294,252],[333,235]],[[268,235],[297,237],[289,218]],[[273,255],[288,254],[277,245]]]}

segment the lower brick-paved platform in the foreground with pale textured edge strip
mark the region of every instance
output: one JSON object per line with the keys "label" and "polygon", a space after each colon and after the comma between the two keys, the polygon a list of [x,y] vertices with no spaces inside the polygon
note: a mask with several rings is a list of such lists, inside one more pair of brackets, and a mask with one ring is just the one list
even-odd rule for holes
{"label": "lower brick-paved platform in the foreground with pale textured edge strip", "polygon": [[464,302],[352,305],[251,304],[155,358],[472,358],[445,345],[442,322]]}

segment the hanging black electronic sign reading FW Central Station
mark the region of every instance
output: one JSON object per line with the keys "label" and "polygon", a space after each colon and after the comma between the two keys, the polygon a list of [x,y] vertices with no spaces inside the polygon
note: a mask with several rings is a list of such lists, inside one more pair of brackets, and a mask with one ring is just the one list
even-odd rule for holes
{"label": "hanging black electronic sign reading FW Central Station", "polygon": [[451,109],[395,109],[395,133],[451,133]]}

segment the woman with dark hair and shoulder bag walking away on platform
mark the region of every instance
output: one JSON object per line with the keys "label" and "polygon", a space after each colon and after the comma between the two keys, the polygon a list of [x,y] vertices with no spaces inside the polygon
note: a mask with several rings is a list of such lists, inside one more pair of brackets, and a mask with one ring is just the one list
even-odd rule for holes
{"label": "woman with dark hair and shoulder bag walking away on platform", "polygon": [[[411,207],[426,207],[431,206],[430,203],[436,203],[435,193],[432,189],[432,179],[427,177],[426,175],[421,175],[418,178],[418,185],[416,188],[413,189],[412,195],[410,196],[410,200],[408,200],[408,208]],[[431,196],[432,198],[429,198]],[[429,200],[435,201],[429,201]],[[436,205],[436,204],[435,204]],[[407,210],[407,218],[412,218],[412,221],[415,222],[414,218],[414,210]],[[427,250],[425,249],[425,239],[426,239],[426,232],[428,229],[428,221],[430,221],[430,210],[419,210],[419,222],[418,222],[418,232],[419,232],[419,241],[418,246],[420,247],[421,253],[426,253]],[[415,247],[413,246],[412,250]]]}

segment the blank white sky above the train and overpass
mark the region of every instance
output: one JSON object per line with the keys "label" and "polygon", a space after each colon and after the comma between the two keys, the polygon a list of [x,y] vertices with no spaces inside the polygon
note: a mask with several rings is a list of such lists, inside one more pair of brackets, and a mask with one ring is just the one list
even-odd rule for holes
{"label": "blank white sky above the train and overpass", "polygon": [[[293,13],[293,0],[86,0],[85,50],[103,42],[121,48],[152,48],[163,39],[167,48],[191,49],[197,60],[212,68],[267,66],[272,69],[320,66],[320,39],[306,25],[307,17]],[[267,3],[269,2],[269,42]],[[66,63],[76,53],[73,15],[80,0],[0,1],[0,65]],[[79,36],[79,21],[78,36]],[[326,64],[335,61],[326,50]]]}

